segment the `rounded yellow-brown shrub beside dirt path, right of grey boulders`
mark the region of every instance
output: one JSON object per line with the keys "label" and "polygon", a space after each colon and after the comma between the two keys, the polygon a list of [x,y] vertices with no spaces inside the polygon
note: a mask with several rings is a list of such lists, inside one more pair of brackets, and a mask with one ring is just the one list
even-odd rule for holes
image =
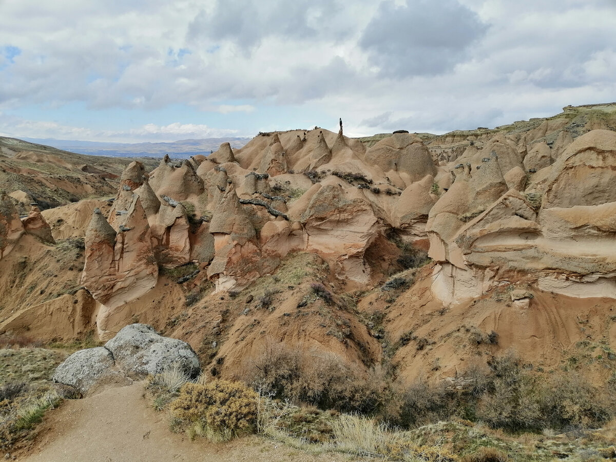
{"label": "rounded yellow-brown shrub beside dirt path, right of grey boulders", "polygon": [[191,436],[228,441],[254,431],[257,399],[254,391],[239,382],[188,382],[171,403],[171,413],[187,426]]}

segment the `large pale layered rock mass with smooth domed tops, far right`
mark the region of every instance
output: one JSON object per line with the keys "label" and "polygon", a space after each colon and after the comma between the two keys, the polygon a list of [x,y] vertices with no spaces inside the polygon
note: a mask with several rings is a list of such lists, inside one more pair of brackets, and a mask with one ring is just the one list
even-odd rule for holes
{"label": "large pale layered rock mass with smooth domed tops, far right", "polygon": [[[591,131],[548,163],[547,179],[529,192],[521,184],[505,192],[500,156],[482,159],[479,171],[471,164],[429,214],[430,255],[442,265],[436,296],[446,303],[477,297],[514,271],[541,290],[616,298],[614,159],[616,134]],[[542,200],[535,187],[545,191]]]}

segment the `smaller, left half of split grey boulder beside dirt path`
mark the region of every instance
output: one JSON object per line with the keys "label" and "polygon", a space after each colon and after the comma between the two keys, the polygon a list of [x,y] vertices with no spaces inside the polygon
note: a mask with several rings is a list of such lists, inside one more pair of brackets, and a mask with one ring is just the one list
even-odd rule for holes
{"label": "smaller, left half of split grey boulder beside dirt path", "polygon": [[106,348],[79,350],[58,366],[53,380],[73,386],[84,394],[102,379],[118,376],[113,366],[113,356]]}

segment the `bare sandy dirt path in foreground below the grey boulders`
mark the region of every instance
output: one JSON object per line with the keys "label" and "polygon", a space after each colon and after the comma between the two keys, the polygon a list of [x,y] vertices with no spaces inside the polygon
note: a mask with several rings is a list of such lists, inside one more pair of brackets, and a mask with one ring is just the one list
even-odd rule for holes
{"label": "bare sandy dirt path in foreground below the grey boulders", "polygon": [[227,444],[172,434],[164,413],[143,399],[143,384],[107,389],[47,413],[28,462],[344,461],[338,454],[309,455],[259,437]]}

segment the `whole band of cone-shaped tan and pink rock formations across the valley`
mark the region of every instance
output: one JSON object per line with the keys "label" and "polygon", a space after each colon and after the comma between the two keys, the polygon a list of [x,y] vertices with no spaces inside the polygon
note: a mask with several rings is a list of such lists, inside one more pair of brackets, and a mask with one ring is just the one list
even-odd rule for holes
{"label": "whole band of cone-shaped tan and pink rock formations across the valley", "polygon": [[573,140],[565,125],[450,134],[441,141],[451,148],[408,132],[373,145],[342,131],[277,132],[209,157],[163,158],[149,175],[132,163],[107,220],[94,216],[86,233],[83,283],[100,304],[99,330],[156,285],[158,267],[192,262],[216,291],[241,290],[302,251],[345,283],[376,283],[371,249],[386,235],[429,251],[445,304],[511,272],[559,293],[616,298],[616,134]]}

